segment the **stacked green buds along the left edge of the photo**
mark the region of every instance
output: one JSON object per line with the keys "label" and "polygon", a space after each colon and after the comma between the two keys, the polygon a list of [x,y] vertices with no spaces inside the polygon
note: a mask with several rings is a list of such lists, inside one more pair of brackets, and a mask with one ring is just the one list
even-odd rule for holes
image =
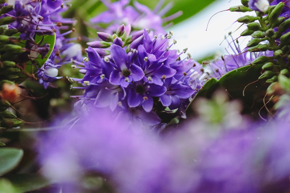
{"label": "stacked green buds along the left edge of the photo", "polygon": [[[0,16],[12,9],[11,5],[3,6],[0,9]],[[5,16],[0,19],[0,130],[18,127],[23,124],[23,121],[7,110],[12,104],[7,99],[2,98],[2,94],[8,92],[3,90],[3,84],[14,85],[14,82],[18,81],[19,77],[22,76],[19,58],[21,58],[21,54],[26,52],[26,49],[19,43],[18,31],[16,29],[8,29],[8,24],[15,20],[16,18],[11,16]]]}

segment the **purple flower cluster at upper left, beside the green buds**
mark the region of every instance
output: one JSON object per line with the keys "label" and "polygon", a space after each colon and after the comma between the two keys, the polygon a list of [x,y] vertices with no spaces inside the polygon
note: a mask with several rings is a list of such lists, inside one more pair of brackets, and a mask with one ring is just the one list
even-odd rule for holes
{"label": "purple flower cluster at upper left, beside the green buds", "polygon": [[[72,19],[64,19],[61,12],[67,9],[63,0],[17,0],[13,5],[14,9],[4,16],[14,16],[16,20],[8,25],[11,29],[17,29],[21,34],[20,38],[26,40],[26,48],[29,50],[28,58],[34,60],[41,54],[45,58],[49,51],[49,45],[35,42],[35,35],[56,34],[56,44],[50,58],[37,72],[39,84],[48,87],[49,82],[59,79],[55,74],[61,64],[67,63],[71,58],[81,60],[81,46],[69,43],[71,39],[64,38],[65,35],[73,32],[67,31],[63,34],[60,30],[67,30]],[[51,73],[53,72],[53,73]]]}

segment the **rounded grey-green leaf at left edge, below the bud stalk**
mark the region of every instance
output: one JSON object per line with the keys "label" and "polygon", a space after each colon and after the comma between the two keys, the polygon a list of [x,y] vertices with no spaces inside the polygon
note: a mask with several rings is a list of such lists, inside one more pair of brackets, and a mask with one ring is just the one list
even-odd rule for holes
{"label": "rounded grey-green leaf at left edge, below the bud stalk", "polygon": [[22,149],[0,148],[0,176],[13,170],[19,164],[22,157]]}

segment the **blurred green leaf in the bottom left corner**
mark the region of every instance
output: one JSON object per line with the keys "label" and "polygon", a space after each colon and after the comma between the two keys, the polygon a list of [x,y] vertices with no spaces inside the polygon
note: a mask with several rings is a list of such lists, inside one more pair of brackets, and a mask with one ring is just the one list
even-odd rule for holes
{"label": "blurred green leaf in the bottom left corner", "polygon": [[1,193],[24,193],[50,185],[40,174],[13,174],[0,178]]}

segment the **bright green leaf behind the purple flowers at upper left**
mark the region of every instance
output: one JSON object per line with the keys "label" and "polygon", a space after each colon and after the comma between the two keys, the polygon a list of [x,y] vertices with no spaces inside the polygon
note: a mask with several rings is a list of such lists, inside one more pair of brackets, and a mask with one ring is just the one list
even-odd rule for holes
{"label": "bright green leaf behind the purple flowers at upper left", "polygon": [[[42,42],[41,42],[41,40],[42,40]],[[35,37],[35,42],[36,43],[41,43],[41,45],[44,45],[45,43],[49,44],[49,51],[46,54],[46,56],[43,59],[41,59],[41,55],[39,54],[38,57],[35,58],[35,61],[38,63],[38,67],[41,67],[42,65],[44,65],[46,60],[50,57],[50,55],[51,55],[51,53],[53,51],[53,48],[55,46],[55,40],[56,40],[55,33],[53,35],[45,35],[45,36],[36,35],[36,37]]]}

